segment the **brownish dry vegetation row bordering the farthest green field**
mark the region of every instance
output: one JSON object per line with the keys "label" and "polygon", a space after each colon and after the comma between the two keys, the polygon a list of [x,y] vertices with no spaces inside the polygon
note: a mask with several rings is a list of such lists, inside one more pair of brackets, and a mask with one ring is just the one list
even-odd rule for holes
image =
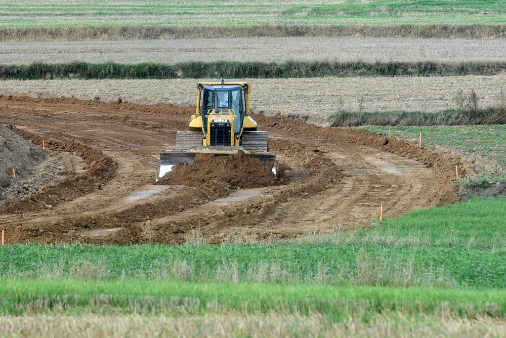
{"label": "brownish dry vegetation row bordering the farthest green field", "polygon": [[[0,41],[75,41],[75,40],[143,40],[143,39],[192,39],[233,37],[302,37],[302,36],[371,36],[408,38],[504,38],[504,24],[397,24],[397,25],[301,25],[272,24],[247,26],[142,26],[141,21],[124,26],[90,25],[0,28]],[[213,20],[214,22],[214,20]]]}

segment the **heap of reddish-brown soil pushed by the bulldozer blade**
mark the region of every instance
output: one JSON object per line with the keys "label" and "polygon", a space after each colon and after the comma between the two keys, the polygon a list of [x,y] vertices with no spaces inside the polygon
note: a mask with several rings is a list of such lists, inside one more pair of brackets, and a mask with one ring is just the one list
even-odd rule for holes
{"label": "heap of reddish-brown soil pushed by the bulldozer blade", "polygon": [[158,182],[162,185],[202,185],[227,183],[239,188],[260,188],[278,183],[272,164],[266,167],[258,158],[239,150],[234,155],[197,154],[193,163],[178,163]]}

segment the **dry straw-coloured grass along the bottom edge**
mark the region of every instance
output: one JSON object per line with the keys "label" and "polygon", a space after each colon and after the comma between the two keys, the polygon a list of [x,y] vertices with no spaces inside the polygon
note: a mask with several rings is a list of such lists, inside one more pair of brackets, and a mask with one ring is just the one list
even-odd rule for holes
{"label": "dry straw-coloured grass along the bottom edge", "polygon": [[503,319],[408,320],[376,316],[369,323],[349,319],[326,323],[321,316],[210,315],[210,316],[6,316],[0,317],[0,334],[16,337],[145,337],[145,336],[504,336]]}

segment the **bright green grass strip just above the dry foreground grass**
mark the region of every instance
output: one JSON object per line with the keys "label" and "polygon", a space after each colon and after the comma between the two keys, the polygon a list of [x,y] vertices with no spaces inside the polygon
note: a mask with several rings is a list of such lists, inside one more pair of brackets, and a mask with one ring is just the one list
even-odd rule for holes
{"label": "bright green grass strip just above the dry foreground grass", "polygon": [[313,313],[340,321],[352,313],[436,314],[461,317],[506,314],[506,291],[497,289],[440,289],[333,287],[158,281],[0,281],[0,313],[44,312],[174,313],[214,312]]}

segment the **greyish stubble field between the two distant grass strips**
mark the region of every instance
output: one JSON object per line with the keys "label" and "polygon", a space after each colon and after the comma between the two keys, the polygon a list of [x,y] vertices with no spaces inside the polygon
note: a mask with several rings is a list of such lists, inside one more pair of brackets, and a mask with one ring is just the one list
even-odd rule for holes
{"label": "greyish stubble field between the two distant grass strips", "polygon": [[502,39],[377,37],[261,37],[135,41],[15,42],[0,44],[0,63],[188,61],[506,61]]}

